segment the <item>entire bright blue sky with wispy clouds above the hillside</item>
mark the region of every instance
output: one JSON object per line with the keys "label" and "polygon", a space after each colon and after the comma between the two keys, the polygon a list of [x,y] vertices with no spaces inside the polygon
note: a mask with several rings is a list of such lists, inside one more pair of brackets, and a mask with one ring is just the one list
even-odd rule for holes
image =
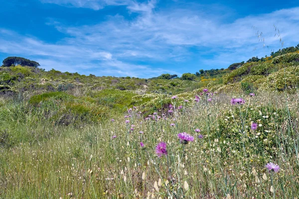
{"label": "entire bright blue sky with wispy clouds above the hillside", "polygon": [[299,44],[298,0],[5,0],[0,17],[0,60],[97,76],[227,68],[281,48],[273,25]]}

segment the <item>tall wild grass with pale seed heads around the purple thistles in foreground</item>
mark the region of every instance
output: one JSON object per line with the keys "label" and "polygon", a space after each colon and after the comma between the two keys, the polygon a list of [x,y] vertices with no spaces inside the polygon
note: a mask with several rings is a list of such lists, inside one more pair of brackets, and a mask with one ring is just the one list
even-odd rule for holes
{"label": "tall wild grass with pale seed heads around the purple thistles in foreground", "polygon": [[[269,162],[281,167],[273,175],[276,198],[299,198],[298,94],[243,96],[240,107],[230,104],[232,97],[242,96],[203,95],[182,109],[176,104],[172,113],[149,117],[133,109],[128,118],[79,126],[41,117],[54,110],[49,104],[38,112],[5,101],[0,198],[272,199]],[[252,122],[259,124],[256,131]],[[195,141],[182,145],[181,132]],[[167,143],[167,157],[155,156],[160,141]]]}

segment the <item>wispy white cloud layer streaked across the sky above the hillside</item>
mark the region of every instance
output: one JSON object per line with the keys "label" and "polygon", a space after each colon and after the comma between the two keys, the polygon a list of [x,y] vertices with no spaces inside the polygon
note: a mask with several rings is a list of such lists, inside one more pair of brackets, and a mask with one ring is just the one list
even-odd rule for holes
{"label": "wispy white cloud layer streaked across the sky above the hillside", "polygon": [[[39,57],[46,69],[152,77],[166,72],[180,75],[201,68],[227,68],[233,62],[278,50],[281,44],[274,36],[274,24],[280,28],[285,46],[299,43],[299,7],[227,23],[219,15],[203,9],[199,12],[196,4],[157,9],[155,0],[42,1],[91,9],[125,5],[128,12],[137,13],[130,20],[117,14],[98,24],[83,26],[68,26],[53,19],[49,25],[67,35],[57,43],[0,30],[1,52]],[[263,48],[257,31],[263,32],[269,49]]]}

